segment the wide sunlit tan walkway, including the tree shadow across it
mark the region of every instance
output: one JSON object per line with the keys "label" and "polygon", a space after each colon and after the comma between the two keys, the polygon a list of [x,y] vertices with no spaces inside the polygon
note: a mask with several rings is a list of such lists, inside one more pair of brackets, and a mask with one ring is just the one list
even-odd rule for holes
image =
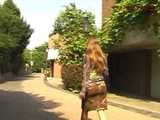
{"label": "wide sunlit tan walkway, including the tree shadow across it", "polygon": [[[46,84],[40,74],[0,84],[0,120],[79,120],[78,96]],[[158,120],[109,106],[108,120]],[[95,111],[91,120],[98,120]]]}

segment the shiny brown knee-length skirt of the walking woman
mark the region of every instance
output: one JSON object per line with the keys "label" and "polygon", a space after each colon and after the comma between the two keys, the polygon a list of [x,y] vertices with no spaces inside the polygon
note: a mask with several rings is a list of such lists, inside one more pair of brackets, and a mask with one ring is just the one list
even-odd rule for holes
{"label": "shiny brown knee-length skirt of the walking woman", "polygon": [[107,109],[107,89],[104,81],[87,83],[85,99],[82,100],[82,109],[87,111]]}

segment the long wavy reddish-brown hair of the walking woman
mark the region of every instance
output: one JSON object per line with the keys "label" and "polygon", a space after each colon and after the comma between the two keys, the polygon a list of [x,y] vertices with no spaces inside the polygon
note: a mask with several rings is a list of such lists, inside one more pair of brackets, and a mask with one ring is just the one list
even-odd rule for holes
{"label": "long wavy reddish-brown hair of the walking woman", "polygon": [[88,39],[86,57],[90,61],[90,68],[98,73],[104,73],[107,69],[106,57],[95,37]]}

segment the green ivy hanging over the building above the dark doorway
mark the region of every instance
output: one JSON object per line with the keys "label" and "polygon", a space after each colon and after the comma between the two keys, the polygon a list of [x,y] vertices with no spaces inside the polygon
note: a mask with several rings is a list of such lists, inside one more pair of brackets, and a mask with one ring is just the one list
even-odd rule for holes
{"label": "green ivy hanging over the building above the dark doorway", "polygon": [[118,45],[127,31],[136,27],[159,31],[158,21],[150,24],[150,18],[159,16],[159,13],[159,0],[118,0],[111,17],[105,20],[100,33],[103,48],[110,50],[111,47]]}

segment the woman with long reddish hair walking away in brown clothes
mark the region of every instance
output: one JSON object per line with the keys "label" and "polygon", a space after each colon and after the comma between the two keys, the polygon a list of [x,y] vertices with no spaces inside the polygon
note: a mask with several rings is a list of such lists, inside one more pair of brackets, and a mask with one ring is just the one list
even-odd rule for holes
{"label": "woman with long reddish hair walking away in brown clothes", "polygon": [[108,76],[107,59],[95,37],[89,38],[84,55],[84,68],[80,98],[81,120],[88,119],[88,111],[107,108],[105,76]]}

